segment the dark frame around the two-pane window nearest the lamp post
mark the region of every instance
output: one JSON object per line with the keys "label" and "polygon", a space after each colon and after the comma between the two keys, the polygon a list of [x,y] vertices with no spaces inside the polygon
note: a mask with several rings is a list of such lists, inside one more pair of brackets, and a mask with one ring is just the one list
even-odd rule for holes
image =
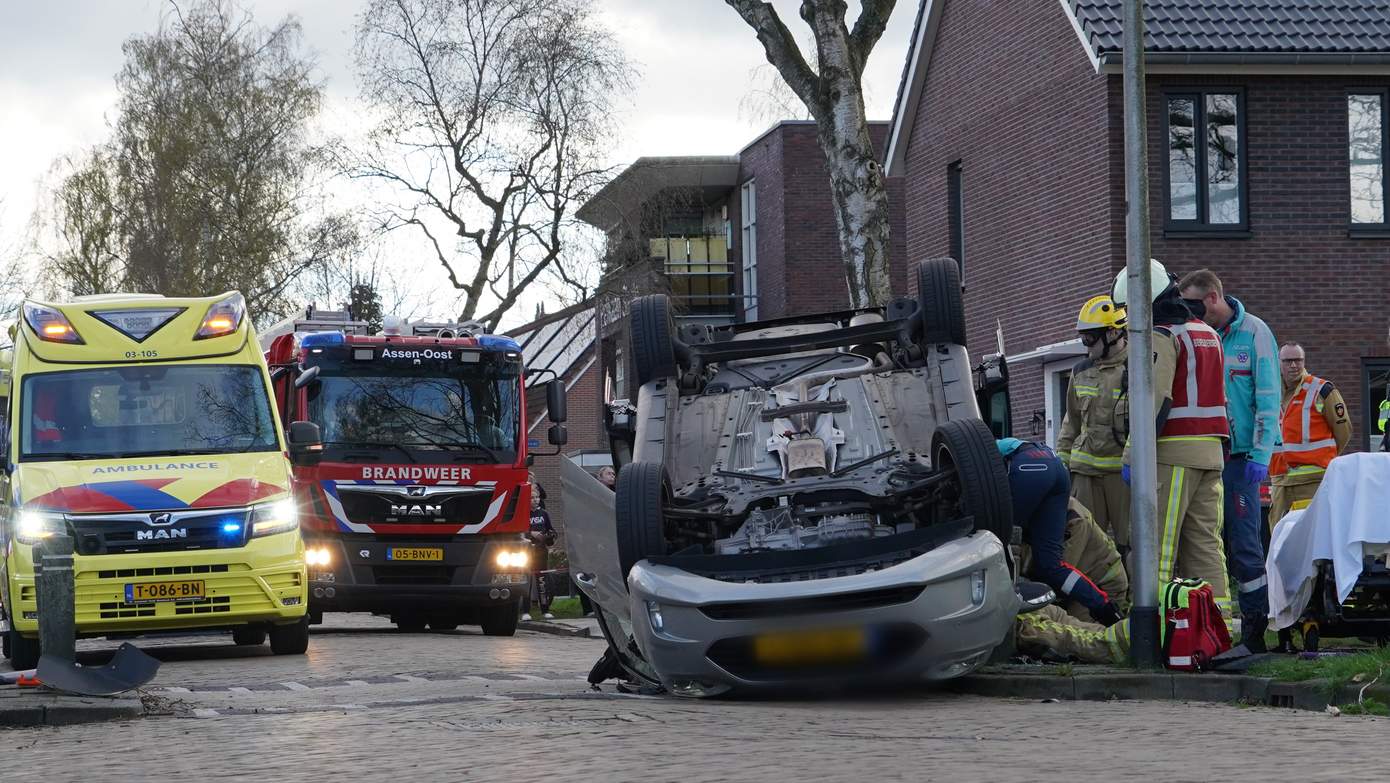
{"label": "dark frame around the two-pane window nearest the lamp post", "polygon": [[[1207,199],[1207,96],[1234,95],[1236,96],[1236,131],[1240,135],[1240,150],[1236,153],[1236,164],[1240,167],[1237,192],[1240,193],[1240,220],[1237,223],[1212,224],[1209,203]],[[1197,140],[1197,220],[1173,220],[1173,182],[1172,159],[1169,149],[1170,111],[1169,103],[1173,99],[1193,99],[1195,113],[1193,115],[1194,140]],[[1241,238],[1250,235],[1250,122],[1245,118],[1245,88],[1207,85],[1207,86],[1170,86],[1162,90],[1162,168],[1163,168],[1163,232],[1180,236],[1212,236],[1212,238]],[[1200,132],[1198,132],[1200,131]]]}

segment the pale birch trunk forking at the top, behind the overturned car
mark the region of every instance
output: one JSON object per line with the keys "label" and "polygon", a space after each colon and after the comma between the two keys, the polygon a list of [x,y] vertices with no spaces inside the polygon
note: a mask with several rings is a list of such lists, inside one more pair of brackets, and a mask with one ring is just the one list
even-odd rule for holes
{"label": "pale birch trunk forking at the top, behind the overturned car", "polygon": [[888,192],[869,135],[862,79],[897,0],[863,0],[853,29],[845,22],[845,0],[802,0],[801,18],[816,39],[815,65],[806,61],[771,3],[724,1],[753,28],[767,61],[816,120],[830,170],[851,305],[885,305],[892,296]]}

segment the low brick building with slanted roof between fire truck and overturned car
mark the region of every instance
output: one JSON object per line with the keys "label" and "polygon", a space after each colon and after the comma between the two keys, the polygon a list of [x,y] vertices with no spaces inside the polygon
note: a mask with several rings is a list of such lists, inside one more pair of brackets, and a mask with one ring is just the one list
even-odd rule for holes
{"label": "low brick building with slanted roof between fire truck and overturned car", "polygon": [[546,439],[550,421],[545,405],[545,382],[552,376],[542,371],[553,371],[564,381],[567,391],[570,442],[562,449],[563,453],[592,470],[598,470],[605,462],[612,463],[599,416],[603,387],[595,352],[595,313],[594,302],[581,302],[507,331],[521,345],[531,384],[525,399],[525,433],[532,452],[542,452],[537,455],[531,473],[546,490],[545,505],[562,537],[564,501],[560,492],[560,465],[557,456],[545,453],[555,449]]}

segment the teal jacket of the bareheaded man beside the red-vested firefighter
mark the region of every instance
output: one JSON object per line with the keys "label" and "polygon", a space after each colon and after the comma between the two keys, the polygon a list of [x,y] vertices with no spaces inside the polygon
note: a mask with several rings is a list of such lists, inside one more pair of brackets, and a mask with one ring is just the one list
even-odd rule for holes
{"label": "teal jacket of the bareheaded man beside the red-vested firefighter", "polygon": [[1227,296],[1226,303],[1236,312],[1220,330],[1226,352],[1230,453],[1269,465],[1279,439],[1279,346],[1269,325],[1247,313],[1240,299]]}

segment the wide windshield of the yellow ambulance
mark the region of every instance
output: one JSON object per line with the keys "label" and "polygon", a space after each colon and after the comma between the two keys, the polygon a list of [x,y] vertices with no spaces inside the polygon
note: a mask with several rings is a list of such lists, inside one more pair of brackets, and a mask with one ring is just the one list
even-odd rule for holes
{"label": "wide windshield of the yellow ambulance", "polygon": [[259,367],[146,364],[28,376],[21,460],[277,451]]}

